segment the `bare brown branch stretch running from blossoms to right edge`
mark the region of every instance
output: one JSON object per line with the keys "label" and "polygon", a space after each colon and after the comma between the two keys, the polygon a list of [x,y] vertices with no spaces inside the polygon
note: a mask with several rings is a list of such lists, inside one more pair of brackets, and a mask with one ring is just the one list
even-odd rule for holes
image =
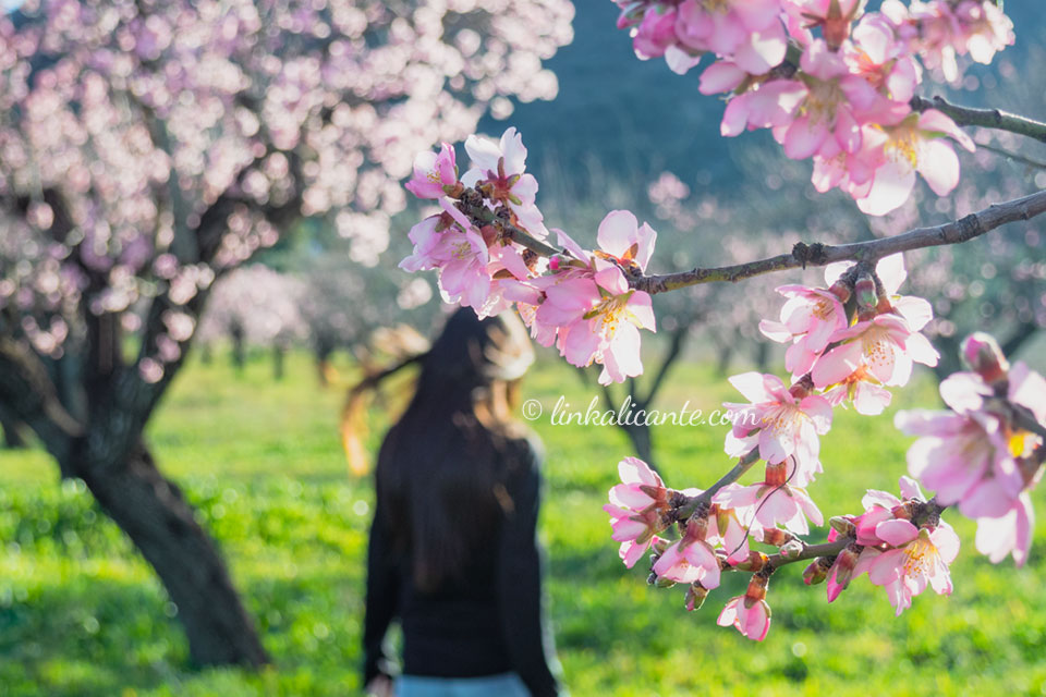
{"label": "bare brown branch stretch running from blossoms to right edge", "polygon": [[1043,212],[1046,212],[1046,191],[1001,204],[993,204],[984,210],[970,213],[959,220],[932,228],[916,228],[892,237],[842,245],[827,245],[819,242],[806,245],[800,242],[790,254],[780,254],[767,259],[723,267],[694,268],[679,273],[654,276],[633,273],[629,281],[632,288],[654,294],[701,283],[723,281],[735,283],[763,273],[807,266],[826,266],[834,261],[874,261],[898,252],[968,242],[1008,222],[1029,220]]}

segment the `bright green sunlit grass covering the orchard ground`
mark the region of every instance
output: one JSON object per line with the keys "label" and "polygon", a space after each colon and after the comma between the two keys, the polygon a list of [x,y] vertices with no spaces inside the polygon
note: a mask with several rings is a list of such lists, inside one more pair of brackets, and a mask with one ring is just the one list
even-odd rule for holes
{"label": "bright green sunlit grass covering the orchard ground", "polygon": [[[542,537],[575,696],[1046,694],[1043,524],[1029,565],[1014,570],[978,557],[972,524],[946,516],[963,540],[954,595],[924,594],[900,619],[866,579],[829,607],[823,586],[802,585],[799,565],[782,570],[768,596],[773,628],[753,644],[715,625],[742,578],[727,578],[688,614],[682,590],[650,588],[642,570],[619,562],[599,509],[627,443],[612,428],[547,418],[559,394],[581,406],[592,389],[556,364],[524,392],[546,407],[534,423],[547,450]],[[661,405],[689,400],[708,411],[730,392],[710,370],[682,366]],[[60,484],[38,451],[0,453],[0,694],[357,694],[373,492],[346,475],[340,400],[318,390],[303,356],[279,383],[265,362],[240,377],[221,362],[194,364],[151,424],[161,467],[199,508],[257,619],[275,660],[260,673],[193,670],[175,609],[83,486]],[[925,380],[897,402],[936,403]],[[823,439],[826,473],[812,487],[826,516],[859,512],[866,487],[896,491],[909,440],[891,424],[890,414],[837,416]],[[657,429],[668,484],[717,478],[729,466],[722,436],[718,427]]]}

